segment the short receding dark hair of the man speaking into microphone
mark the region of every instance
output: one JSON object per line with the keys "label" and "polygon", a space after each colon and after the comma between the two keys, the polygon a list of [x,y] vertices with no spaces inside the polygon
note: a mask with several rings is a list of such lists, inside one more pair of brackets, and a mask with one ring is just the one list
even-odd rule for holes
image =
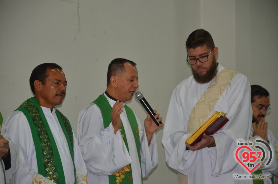
{"label": "short receding dark hair of the man speaking into microphone", "polygon": [[125,72],[125,63],[130,63],[131,65],[136,67],[136,63],[124,58],[116,58],[110,62],[107,70],[107,87],[110,84],[111,76],[115,76]]}

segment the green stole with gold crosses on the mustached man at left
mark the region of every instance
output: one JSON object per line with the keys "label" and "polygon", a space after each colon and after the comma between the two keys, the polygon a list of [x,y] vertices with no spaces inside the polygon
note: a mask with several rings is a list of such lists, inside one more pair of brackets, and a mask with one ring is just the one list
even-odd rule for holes
{"label": "green stole with gold crosses on the mustached man at left", "polygon": [[[17,110],[23,112],[30,125],[36,150],[39,174],[54,183],[65,184],[65,175],[61,157],[43,110],[39,105],[39,101],[34,97],[27,99],[19,106],[19,108],[17,108]],[[56,116],[67,139],[69,152],[72,156],[74,177],[76,181],[72,127],[70,126],[68,119],[57,109]]]}

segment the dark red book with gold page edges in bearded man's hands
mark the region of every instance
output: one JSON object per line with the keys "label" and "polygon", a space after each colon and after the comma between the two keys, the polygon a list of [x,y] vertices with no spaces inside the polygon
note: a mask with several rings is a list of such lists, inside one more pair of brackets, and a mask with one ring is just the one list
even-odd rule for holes
{"label": "dark red book with gold page edges in bearded man's hands", "polygon": [[186,142],[193,146],[201,141],[204,133],[209,136],[213,135],[229,121],[225,115],[226,113],[224,112],[215,111],[211,117],[186,140]]}

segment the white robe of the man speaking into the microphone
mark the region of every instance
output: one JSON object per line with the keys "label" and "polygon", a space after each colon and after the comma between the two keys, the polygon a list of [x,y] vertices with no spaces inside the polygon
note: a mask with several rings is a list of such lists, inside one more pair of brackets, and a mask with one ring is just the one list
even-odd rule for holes
{"label": "white robe of the man speaking into the microphone", "polygon": [[[111,107],[113,107],[116,101],[107,97],[106,94],[105,97]],[[151,143],[148,145],[148,141],[145,141],[145,130],[142,131],[136,114],[135,117],[140,136],[142,172],[134,136],[125,108],[123,108],[120,118],[125,128],[129,153],[120,130],[114,134],[112,122],[109,127],[104,129],[103,117],[96,104],[90,104],[81,110],[78,118],[77,142],[88,170],[88,183],[108,184],[108,175],[118,172],[131,163],[133,183],[142,184],[141,173],[143,178],[147,177],[157,165],[156,136],[153,134]]]}

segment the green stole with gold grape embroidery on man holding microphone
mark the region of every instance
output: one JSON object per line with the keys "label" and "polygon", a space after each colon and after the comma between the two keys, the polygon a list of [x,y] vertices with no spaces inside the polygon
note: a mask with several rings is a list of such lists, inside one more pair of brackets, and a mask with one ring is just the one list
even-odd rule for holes
{"label": "green stole with gold grape embroidery on man holding microphone", "polygon": [[[110,123],[112,122],[111,114],[110,114],[112,107],[109,104],[106,97],[104,96],[104,94],[101,94],[100,96],[98,96],[98,98],[96,100],[94,100],[92,103],[98,105],[98,107],[100,108],[100,111],[101,111],[101,114],[103,117],[103,128],[105,129],[106,127],[109,127]],[[127,118],[130,123],[132,133],[134,136],[134,140],[136,143],[136,148],[137,148],[139,163],[140,163],[140,168],[141,168],[140,140],[139,140],[140,138],[139,138],[138,124],[137,124],[134,112],[131,110],[131,108],[129,108],[127,105],[125,105],[125,111],[127,113]],[[122,139],[125,142],[125,146],[127,147],[127,151],[129,152],[127,138],[125,136],[125,128],[124,128],[123,124],[120,128],[120,132],[122,134]],[[141,173],[141,178],[142,178],[142,173]],[[119,184],[119,183],[120,184],[132,184],[133,183],[131,164],[122,168],[115,174],[109,175],[109,184],[116,184],[116,183],[117,184]]]}

